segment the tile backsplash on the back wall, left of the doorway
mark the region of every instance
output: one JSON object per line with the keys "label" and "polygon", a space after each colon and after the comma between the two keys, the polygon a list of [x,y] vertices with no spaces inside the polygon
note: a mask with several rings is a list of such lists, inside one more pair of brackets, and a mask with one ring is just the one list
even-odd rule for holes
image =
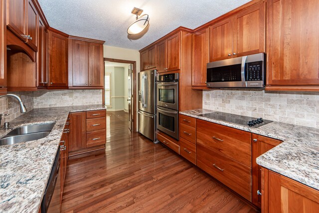
{"label": "tile backsplash on the back wall, left of the doorway", "polygon": [[102,104],[102,90],[54,90],[34,92],[34,108]]}

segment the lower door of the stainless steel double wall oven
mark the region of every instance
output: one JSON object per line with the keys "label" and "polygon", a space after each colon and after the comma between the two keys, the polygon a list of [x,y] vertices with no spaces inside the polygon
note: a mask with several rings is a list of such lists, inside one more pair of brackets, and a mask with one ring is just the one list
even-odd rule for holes
{"label": "lower door of the stainless steel double wall oven", "polygon": [[178,140],[178,111],[158,106],[158,130]]}

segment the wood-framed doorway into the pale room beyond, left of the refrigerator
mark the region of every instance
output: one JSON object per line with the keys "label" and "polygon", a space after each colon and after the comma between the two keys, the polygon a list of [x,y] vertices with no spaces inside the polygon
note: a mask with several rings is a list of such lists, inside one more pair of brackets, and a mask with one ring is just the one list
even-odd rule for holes
{"label": "wood-framed doorway into the pale room beyond, left of the refrigerator", "polygon": [[104,65],[103,103],[108,111],[127,112],[128,127],[136,132],[136,61],[104,58]]}

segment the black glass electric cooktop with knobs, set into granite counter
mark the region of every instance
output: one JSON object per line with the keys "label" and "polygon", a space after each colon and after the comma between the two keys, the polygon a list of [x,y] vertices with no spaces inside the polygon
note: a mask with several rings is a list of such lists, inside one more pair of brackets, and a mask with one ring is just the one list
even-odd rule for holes
{"label": "black glass electric cooktop with knobs, set into granite counter", "polygon": [[243,126],[249,126],[252,128],[257,128],[257,127],[273,122],[270,120],[264,120],[263,118],[253,118],[253,117],[230,114],[225,112],[212,112],[207,114],[200,114],[198,116],[235,123],[235,124],[239,124]]}

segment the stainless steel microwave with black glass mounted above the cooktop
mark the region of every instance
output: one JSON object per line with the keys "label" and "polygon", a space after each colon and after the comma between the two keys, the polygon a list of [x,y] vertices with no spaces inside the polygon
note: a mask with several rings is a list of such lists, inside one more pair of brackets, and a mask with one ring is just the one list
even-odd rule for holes
{"label": "stainless steel microwave with black glass mounted above the cooktop", "polygon": [[265,61],[258,53],[207,63],[207,87],[264,87]]}

